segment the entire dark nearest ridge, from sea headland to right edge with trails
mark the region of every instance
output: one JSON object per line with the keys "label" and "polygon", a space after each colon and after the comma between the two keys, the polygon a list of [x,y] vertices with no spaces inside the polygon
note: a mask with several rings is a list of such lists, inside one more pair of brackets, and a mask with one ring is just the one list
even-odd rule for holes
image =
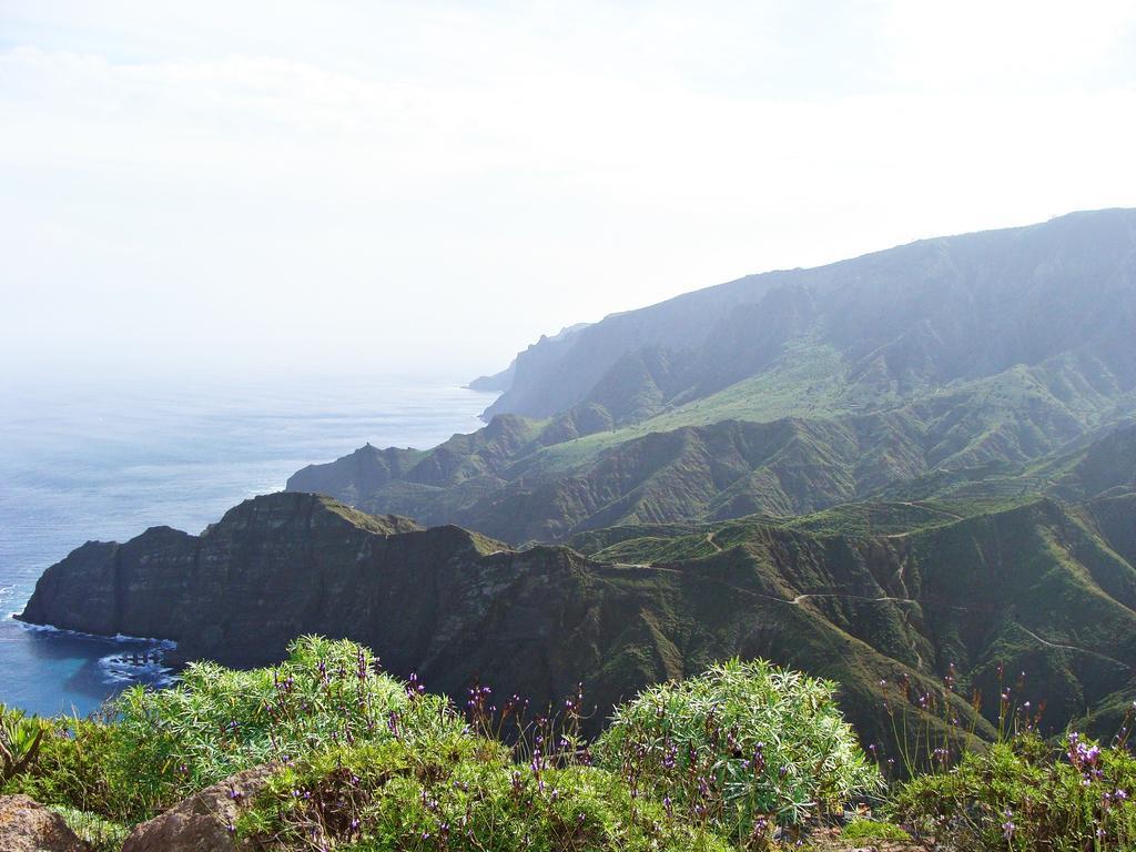
{"label": "entire dark nearest ridge, from sea headland to right edge with trails", "polygon": [[1056,726],[1126,694],[1136,571],[1102,535],[1049,502],[966,520],[914,507],[886,534],[760,518],[596,533],[591,546],[621,549],[604,562],[282,493],[201,536],[89,543],[43,575],[22,618],[242,666],[301,633],[348,636],[454,696],[479,679],[543,704],[583,680],[596,725],[649,683],[766,657],[837,679],[863,736],[884,741],[879,682],[936,691],[952,662],[963,695],[1000,661],[1026,670]]}

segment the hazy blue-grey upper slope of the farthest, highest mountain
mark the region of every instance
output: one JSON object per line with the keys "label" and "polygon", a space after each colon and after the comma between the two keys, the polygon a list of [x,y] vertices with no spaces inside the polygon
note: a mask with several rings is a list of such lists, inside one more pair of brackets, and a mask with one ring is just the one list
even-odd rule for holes
{"label": "hazy blue-grey upper slope of the farthest, highest mountain", "polygon": [[[518,357],[486,411],[549,417],[628,382],[626,356],[665,348],[671,401],[760,375],[794,341],[829,349],[866,402],[1037,365],[1100,359],[1125,389],[1136,323],[1136,210],[925,240],[816,269],[741,278],[613,315]],[[653,381],[653,377],[652,377]]]}

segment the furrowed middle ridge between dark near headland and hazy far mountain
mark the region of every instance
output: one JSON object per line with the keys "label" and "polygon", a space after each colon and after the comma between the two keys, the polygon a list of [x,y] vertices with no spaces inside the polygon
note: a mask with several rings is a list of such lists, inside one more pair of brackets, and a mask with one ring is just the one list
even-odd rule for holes
{"label": "furrowed middle ridge between dark near headland and hazy far mountain", "polygon": [[[792,516],[877,496],[1020,498],[1053,490],[1076,498],[1071,479],[1059,482],[1081,475],[1068,470],[1074,457],[1058,454],[1047,467],[1039,459],[1093,429],[1092,407],[1058,399],[1037,370],[1012,374],[878,414],[668,432],[645,432],[649,421],[627,429],[632,437],[609,441],[618,434],[609,432],[551,446],[542,445],[551,426],[501,416],[465,444],[456,440],[427,454],[401,479],[383,479],[386,468],[374,452],[362,457],[374,458],[374,470],[356,473],[360,451],[351,461],[311,466],[287,487],[513,542],[620,524]],[[344,468],[351,476],[337,482]],[[362,492],[362,479],[381,484]]]}

